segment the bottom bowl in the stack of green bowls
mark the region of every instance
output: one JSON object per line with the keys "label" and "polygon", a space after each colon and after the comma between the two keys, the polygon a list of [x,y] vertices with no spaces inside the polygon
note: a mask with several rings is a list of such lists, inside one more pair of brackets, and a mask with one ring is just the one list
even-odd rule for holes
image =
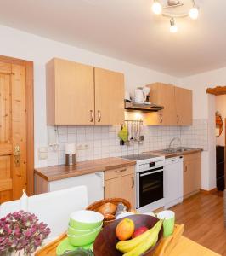
{"label": "bottom bowl in the stack of green bowls", "polygon": [[95,241],[100,230],[101,228],[82,236],[71,236],[68,234],[67,235],[68,241],[71,243],[71,245],[75,247],[82,247],[82,246],[88,245],[91,242]]}

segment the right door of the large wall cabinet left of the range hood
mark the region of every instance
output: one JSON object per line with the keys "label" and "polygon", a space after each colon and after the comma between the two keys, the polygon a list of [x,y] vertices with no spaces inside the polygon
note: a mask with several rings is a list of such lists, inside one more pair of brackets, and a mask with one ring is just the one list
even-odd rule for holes
{"label": "right door of the large wall cabinet left of the range hood", "polygon": [[95,74],[95,125],[124,122],[124,75],[102,68]]}

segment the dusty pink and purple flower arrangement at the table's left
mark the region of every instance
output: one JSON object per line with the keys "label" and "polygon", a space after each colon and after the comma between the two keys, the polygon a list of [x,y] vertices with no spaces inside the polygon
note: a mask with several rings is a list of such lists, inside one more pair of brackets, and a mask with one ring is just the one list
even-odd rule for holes
{"label": "dusty pink and purple flower arrangement at the table's left", "polygon": [[49,233],[48,225],[38,223],[35,214],[24,211],[9,213],[0,219],[0,255],[31,255]]}

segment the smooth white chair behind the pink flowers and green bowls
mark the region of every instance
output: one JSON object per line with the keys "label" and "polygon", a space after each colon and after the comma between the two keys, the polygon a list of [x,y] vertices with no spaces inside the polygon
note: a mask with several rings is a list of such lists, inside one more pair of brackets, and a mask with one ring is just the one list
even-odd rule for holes
{"label": "smooth white chair behind the pink flowers and green bowls", "polygon": [[[20,200],[8,201],[0,206],[0,218],[9,212],[21,209]],[[39,221],[48,224],[52,240],[67,230],[71,212],[88,206],[88,192],[85,186],[62,189],[54,192],[27,197],[27,211],[34,213]]]}

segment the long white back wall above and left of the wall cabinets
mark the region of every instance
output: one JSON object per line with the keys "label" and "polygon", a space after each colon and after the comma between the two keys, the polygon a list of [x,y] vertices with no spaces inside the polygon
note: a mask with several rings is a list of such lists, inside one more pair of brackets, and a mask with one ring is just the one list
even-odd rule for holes
{"label": "long white back wall above and left of the wall cabinets", "polygon": [[[176,78],[166,74],[157,73],[104,55],[98,55],[88,50],[37,37],[7,26],[0,26],[0,34],[0,55],[34,62],[36,151],[40,146],[47,145],[45,63],[54,56],[122,72],[125,74],[126,88],[129,91],[133,91],[139,85],[156,81],[177,83]],[[47,161],[37,161],[37,152],[35,154],[35,166],[47,166]]]}

